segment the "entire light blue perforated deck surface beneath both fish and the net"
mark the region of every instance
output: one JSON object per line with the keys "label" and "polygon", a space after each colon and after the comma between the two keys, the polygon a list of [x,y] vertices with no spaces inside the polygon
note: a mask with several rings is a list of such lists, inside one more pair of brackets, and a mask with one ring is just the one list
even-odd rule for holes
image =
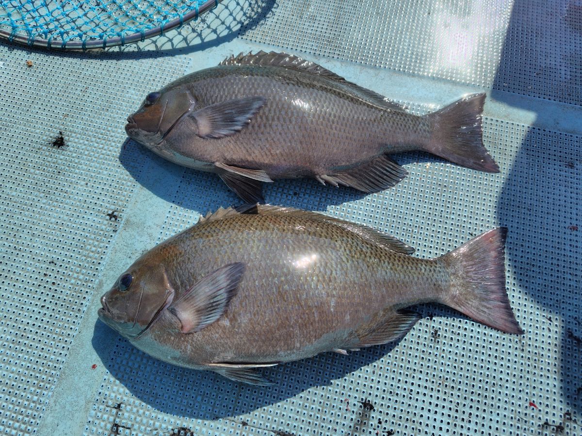
{"label": "entire light blue perforated deck surface beneath both fish and the net", "polygon": [[[391,190],[279,181],[265,199],[388,231],[423,258],[509,227],[523,337],[424,305],[398,344],[267,369],[275,385],[263,388],[159,362],[97,320],[140,253],[239,203],[213,174],[128,141],[126,116],[147,92],[258,49],[300,54],[419,113],[488,93],[484,141],[500,174],[409,153]],[[1,44],[0,430],[582,434],[581,54],[578,0],[225,0],[139,46]]]}

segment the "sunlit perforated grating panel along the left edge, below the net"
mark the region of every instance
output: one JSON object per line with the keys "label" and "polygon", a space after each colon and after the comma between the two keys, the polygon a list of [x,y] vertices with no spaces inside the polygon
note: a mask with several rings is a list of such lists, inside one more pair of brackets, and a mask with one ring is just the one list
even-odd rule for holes
{"label": "sunlit perforated grating panel along the left edge, below the net", "polygon": [[[1,50],[0,429],[32,433],[136,185],[117,159],[133,94],[112,91],[139,69]],[[149,62],[166,77],[189,64]]]}

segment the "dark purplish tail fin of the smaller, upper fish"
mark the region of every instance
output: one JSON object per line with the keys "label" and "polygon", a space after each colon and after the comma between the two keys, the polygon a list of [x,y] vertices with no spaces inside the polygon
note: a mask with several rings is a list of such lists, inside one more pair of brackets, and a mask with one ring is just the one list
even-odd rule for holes
{"label": "dark purplish tail fin of the smaller, upper fish", "polygon": [[428,115],[434,133],[426,151],[474,170],[499,173],[499,166],[483,145],[484,102],[484,93],[471,94]]}

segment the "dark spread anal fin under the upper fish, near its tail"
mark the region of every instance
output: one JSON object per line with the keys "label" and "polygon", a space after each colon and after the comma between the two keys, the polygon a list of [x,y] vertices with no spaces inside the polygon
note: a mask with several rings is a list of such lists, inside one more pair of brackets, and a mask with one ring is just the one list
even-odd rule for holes
{"label": "dark spread anal fin under the upper fish, near its tail", "polygon": [[402,166],[382,155],[355,168],[322,174],[316,178],[321,182],[327,181],[334,186],[350,186],[371,194],[394,186],[407,174],[408,172]]}

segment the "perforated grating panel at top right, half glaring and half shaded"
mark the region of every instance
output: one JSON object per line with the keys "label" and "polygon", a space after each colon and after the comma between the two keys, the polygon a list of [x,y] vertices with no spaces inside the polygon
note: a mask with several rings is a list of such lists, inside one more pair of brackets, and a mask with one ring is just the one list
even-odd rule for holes
{"label": "perforated grating panel at top right, half glaring and half shaded", "polygon": [[410,74],[580,104],[577,0],[276,2],[243,38]]}

